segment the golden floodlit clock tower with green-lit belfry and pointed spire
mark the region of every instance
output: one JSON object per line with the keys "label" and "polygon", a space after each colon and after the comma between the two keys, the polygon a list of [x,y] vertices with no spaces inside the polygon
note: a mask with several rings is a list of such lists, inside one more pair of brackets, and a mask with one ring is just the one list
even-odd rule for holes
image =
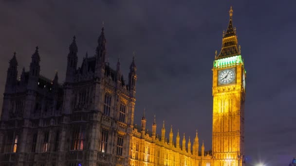
{"label": "golden floodlit clock tower with green-lit belfry and pointed spire", "polygon": [[232,26],[232,7],[227,31],[223,32],[221,52],[213,67],[214,166],[244,166],[244,62],[236,29]]}

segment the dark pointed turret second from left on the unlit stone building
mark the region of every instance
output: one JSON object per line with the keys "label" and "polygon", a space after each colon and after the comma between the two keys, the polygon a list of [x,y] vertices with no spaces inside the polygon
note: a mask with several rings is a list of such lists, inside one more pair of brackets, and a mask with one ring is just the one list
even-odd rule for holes
{"label": "dark pointed turret second from left on the unlit stone building", "polygon": [[40,63],[40,56],[39,56],[38,46],[37,46],[34,54],[32,55],[32,61],[30,64],[29,81],[28,81],[29,89],[36,89],[37,87],[37,82],[38,82],[39,73],[40,73],[39,63]]}

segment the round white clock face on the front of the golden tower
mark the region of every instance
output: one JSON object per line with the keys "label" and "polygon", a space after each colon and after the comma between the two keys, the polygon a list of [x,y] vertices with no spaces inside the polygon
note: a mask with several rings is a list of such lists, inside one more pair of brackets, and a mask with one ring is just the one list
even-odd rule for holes
{"label": "round white clock face on the front of the golden tower", "polygon": [[227,68],[218,71],[218,85],[235,82],[235,68]]}

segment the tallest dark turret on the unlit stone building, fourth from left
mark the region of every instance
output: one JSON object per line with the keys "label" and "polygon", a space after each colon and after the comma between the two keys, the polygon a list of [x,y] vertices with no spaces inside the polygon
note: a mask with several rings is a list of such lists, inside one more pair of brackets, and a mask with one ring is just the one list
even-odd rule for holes
{"label": "tallest dark turret on the unlit stone building, fourth from left", "polygon": [[95,52],[95,77],[102,78],[105,73],[106,38],[104,27],[98,38],[98,46]]}

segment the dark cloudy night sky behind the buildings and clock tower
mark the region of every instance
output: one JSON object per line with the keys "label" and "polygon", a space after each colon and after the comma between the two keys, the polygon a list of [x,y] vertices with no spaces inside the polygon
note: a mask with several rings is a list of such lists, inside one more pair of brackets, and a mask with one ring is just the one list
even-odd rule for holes
{"label": "dark cloudy night sky behind the buildings and clock tower", "polygon": [[[78,0],[77,0],[78,1]],[[288,1],[290,3],[288,3]],[[211,149],[212,67],[221,50],[229,8],[245,60],[245,155],[249,164],[288,166],[296,156],[296,2],[292,0],[1,0],[0,93],[13,52],[19,75],[39,46],[41,74],[65,79],[67,54],[76,35],[78,66],[93,56],[104,21],[107,58],[120,58],[128,80],[132,52],[137,66],[135,123],[146,108],[151,130],[156,114],[166,133],[173,125],[191,143]],[[294,4],[292,4],[294,3]],[[2,96],[1,101],[2,104]]]}

